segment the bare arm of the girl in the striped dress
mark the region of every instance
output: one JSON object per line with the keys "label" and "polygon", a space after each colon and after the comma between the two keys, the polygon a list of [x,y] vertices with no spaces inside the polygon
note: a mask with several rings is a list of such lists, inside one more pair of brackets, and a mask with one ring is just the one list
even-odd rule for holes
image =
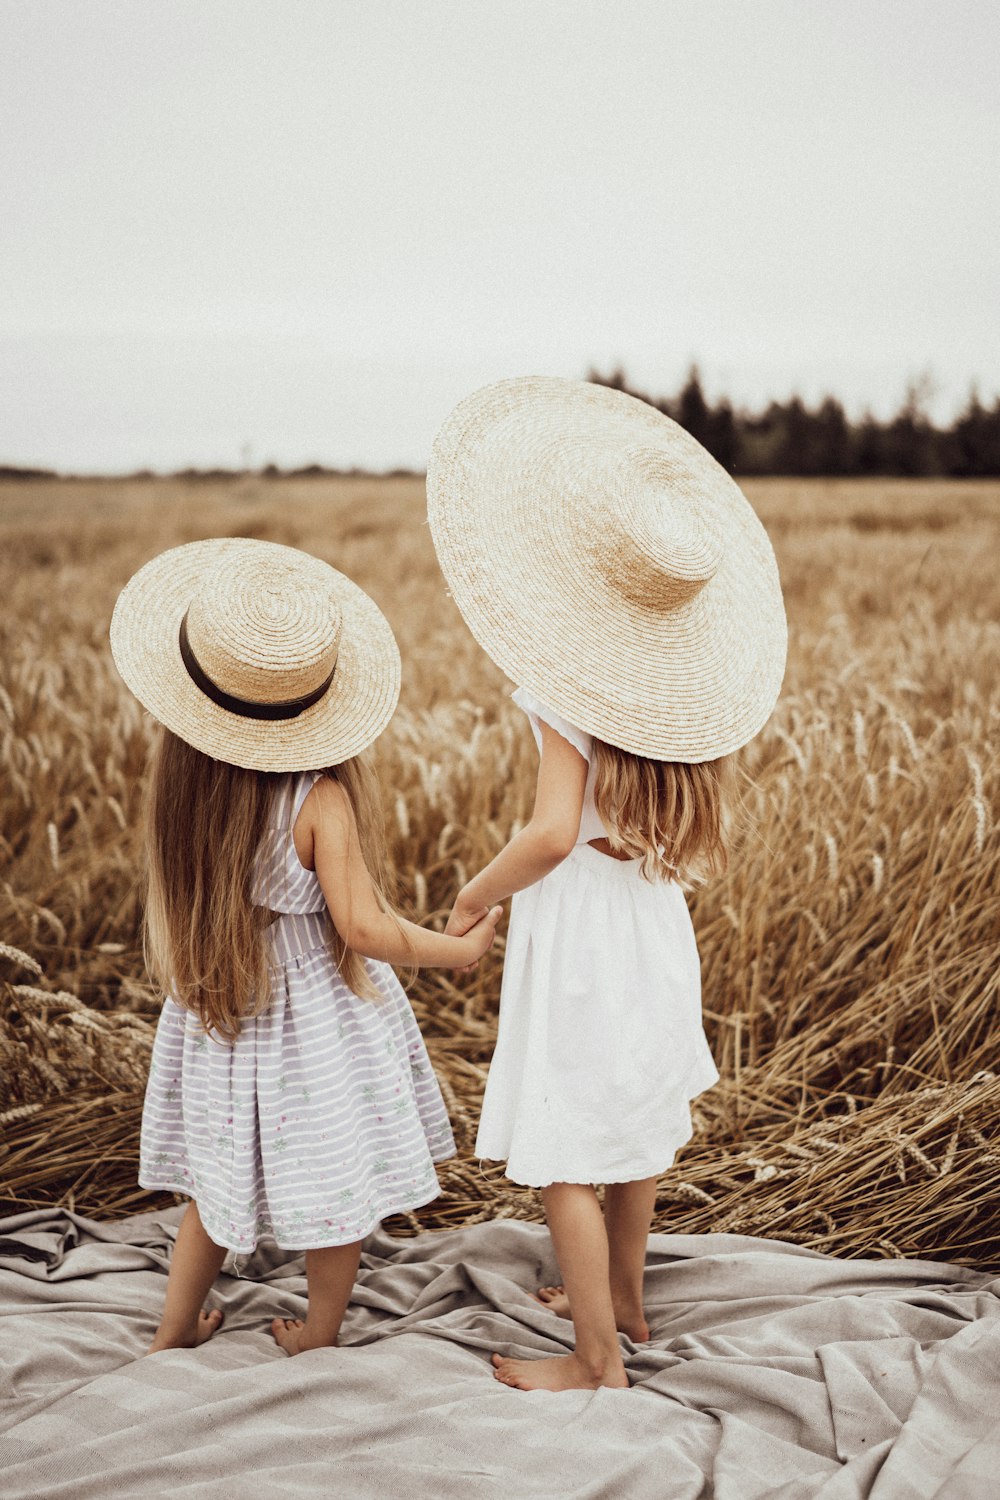
{"label": "bare arm of the girl in the striped dress", "polygon": [[460,969],[475,963],[493,942],[501,908],[469,924],[463,936],[445,936],[384,912],[364,864],[351,800],[322,777],[295,820],[295,848],[315,868],[340,938],[366,958],[418,968]]}

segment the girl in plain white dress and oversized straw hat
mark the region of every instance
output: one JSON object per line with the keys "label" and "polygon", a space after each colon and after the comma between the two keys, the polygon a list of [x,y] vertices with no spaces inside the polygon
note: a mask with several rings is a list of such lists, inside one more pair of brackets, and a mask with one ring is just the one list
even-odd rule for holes
{"label": "girl in plain white dress and oversized straw hat", "polygon": [[[774,554],[733,480],[621,392],[477,392],[427,470],[442,572],[525,684],[529,824],[459,892],[462,933],[514,896],[477,1152],[541,1188],[573,1354],[493,1354],[520,1389],[625,1388],[657,1178],[717,1082],[684,885],[724,868],[733,752],[784,670]],[[595,1192],[604,1184],[604,1208]]]}

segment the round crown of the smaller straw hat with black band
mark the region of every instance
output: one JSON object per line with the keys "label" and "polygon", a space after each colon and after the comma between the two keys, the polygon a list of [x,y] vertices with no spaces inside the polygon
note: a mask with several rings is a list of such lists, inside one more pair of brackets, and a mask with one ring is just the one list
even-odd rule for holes
{"label": "round crown of the smaller straw hat with black band", "polygon": [[282,704],[313,693],[336,668],[340,606],[325,564],[313,558],[228,560],[192,598],[187,642],[201,670],[247,704]]}

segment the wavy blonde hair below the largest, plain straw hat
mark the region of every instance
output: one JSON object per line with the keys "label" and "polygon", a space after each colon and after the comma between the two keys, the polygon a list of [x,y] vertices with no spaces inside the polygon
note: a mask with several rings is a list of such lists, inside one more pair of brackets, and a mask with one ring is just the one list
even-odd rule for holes
{"label": "wavy blonde hair below the largest, plain straw hat", "polygon": [[736,756],[648,760],[594,741],[594,802],[616,854],[648,880],[699,884],[721,874],[738,808]]}

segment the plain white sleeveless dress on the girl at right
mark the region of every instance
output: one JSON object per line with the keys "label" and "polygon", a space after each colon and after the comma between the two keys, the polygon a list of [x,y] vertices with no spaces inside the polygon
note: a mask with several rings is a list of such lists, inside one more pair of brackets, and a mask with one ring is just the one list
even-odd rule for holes
{"label": "plain white sleeveless dress on the girl at right", "polygon": [[511,903],[475,1152],[529,1186],[654,1178],[691,1137],[690,1101],[718,1082],[684,891],[589,846],[607,837],[591,736],[525,688],[514,702],[538,748],[544,720],[591,771],[576,848]]}

